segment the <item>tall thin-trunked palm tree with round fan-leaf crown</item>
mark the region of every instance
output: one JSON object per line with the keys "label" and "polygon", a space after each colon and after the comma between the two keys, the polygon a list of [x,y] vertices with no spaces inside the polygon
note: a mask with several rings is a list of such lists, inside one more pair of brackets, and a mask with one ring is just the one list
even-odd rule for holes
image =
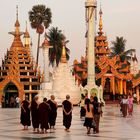
{"label": "tall thin-trunked palm tree with round fan-leaf crown", "polygon": [[37,45],[37,57],[36,64],[38,66],[39,58],[39,46],[40,46],[40,35],[44,32],[44,28],[47,29],[50,25],[52,13],[50,8],[46,8],[45,5],[35,5],[32,10],[29,11],[29,21],[31,27],[36,29],[38,33],[38,45]]}

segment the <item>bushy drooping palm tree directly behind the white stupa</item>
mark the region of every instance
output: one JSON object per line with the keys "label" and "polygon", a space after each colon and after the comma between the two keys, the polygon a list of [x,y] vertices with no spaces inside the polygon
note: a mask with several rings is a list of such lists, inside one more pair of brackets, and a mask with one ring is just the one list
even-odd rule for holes
{"label": "bushy drooping palm tree directly behind the white stupa", "polygon": [[[58,29],[58,27],[52,27],[51,29],[49,29],[47,37],[49,39],[50,45],[53,46],[53,48],[49,49],[50,64],[54,66],[54,62],[56,61],[56,66],[58,66],[61,59],[62,46],[63,46],[62,43],[63,41],[65,41],[65,44],[67,44],[69,41],[66,40],[65,35],[62,33],[61,30]],[[67,60],[69,60],[69,53],[70,50],[66,47]]]}

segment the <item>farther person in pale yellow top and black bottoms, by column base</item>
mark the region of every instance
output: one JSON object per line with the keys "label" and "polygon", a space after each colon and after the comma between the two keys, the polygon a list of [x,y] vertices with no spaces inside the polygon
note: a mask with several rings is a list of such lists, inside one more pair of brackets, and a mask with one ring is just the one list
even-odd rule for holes
{"label": "farther person in pale yellow top and black bottoms, by column base", "polygon": [[85,110],[85,96],[84,94],[81,94],[81,100],[80,100],[80,118],[85,117],[86,110]]}

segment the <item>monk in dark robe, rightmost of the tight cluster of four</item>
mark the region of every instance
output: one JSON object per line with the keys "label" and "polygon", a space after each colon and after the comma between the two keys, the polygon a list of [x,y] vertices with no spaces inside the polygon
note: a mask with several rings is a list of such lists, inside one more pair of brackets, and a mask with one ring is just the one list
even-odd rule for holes
{"label": "monk in dark robe, rightmost of the tight cluster of four", "polygon": [[55,130],[55,123],[56,123],[56,117],[57,117],[57,102],[55,101],[55,96],[51,95],[50,100],[47,102],[50,105],[50,113],[49,113],[49,124],[50,124],[50,132],[51,130]]}

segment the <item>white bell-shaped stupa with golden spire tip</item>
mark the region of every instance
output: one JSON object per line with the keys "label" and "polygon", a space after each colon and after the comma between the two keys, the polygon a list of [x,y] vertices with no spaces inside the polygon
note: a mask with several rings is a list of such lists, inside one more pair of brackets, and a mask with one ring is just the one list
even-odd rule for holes
{"label": "white bell-shaped stupa with golden spire tip", "polygon": [[66,95],[70,95],[71,102],[78,104],[80,100],[80,87],[75,83],[75,78],[71,73],[70,67],[66,59],[65,43],[63,43],[61,62],[54,69],[52,79],[53,94],[61,100],[66,99]]}

